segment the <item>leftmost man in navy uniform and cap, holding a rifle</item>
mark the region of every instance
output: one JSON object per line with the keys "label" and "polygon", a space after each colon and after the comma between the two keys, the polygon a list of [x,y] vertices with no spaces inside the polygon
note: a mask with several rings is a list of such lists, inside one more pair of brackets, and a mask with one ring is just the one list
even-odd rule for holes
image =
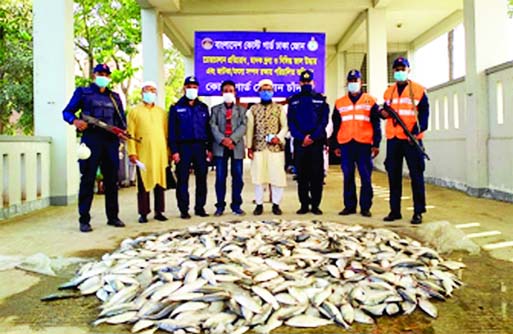
{"label": "leftmost man in navy uniform and cap, holding a rifle", "polygon": [[103,175],[107,224],[114,227],[125,226],[118,218],[117,175],[119,169],[119,139],[126,139],[126,137],[124,134],[116,136],[103,129],[88,126],[85,121],[75,115],[78,110],[81,110],[82,115],[97,118],[108,125],[123,130],[126,129],[125,113],[119,95],[107,88],[111,73],[109,67],[106,64],[98,64],[93,72],[94,82],[88,87],[78,87],[62,112],[64,120],[83,133],[82,143],[91,150],[91,156],[79,162],[80,173],[82,174],[78,193],[81,232],[92,231],[89,211],[93,202],[94,182],[98,166],[100,166]]}

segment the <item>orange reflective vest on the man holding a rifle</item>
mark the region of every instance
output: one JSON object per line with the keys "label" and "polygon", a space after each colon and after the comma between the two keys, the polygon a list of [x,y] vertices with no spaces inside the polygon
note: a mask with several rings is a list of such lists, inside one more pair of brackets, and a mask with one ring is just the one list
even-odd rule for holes
{"label": "orange reflective vest on the man holding a rifle", "polygon": [[[424,96],[425,88],[408,80],[408,84],[404,87],[402,94],[399,96],[397,83],[389,86],[385,91],[385,103],[388,103],[403,120],[408,130],[412,131],[418,125],[417,119],[417,105]],[[413,101],[412,101],[413,99]],[[394,124],[391,118],[387,119],[386,125],[387,139],[397,137],[398,139],[408,139],[403,129],[399,124]],[[423,133],[417,135],[418,139],[424,137]]]}

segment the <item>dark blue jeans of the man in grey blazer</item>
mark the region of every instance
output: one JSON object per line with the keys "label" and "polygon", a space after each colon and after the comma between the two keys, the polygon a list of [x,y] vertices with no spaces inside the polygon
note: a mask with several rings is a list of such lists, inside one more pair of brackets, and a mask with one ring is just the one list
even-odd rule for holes
{"label": "dark blue jeans of the man in grey blazer", "polygon": [[216,166],[216,207],[224,209],[226,206],[226,178],[228,177],[228,160],[230,160],[230,172],[232,176],[232,210],[240,209],[242,204],[242,159],[234,159],[233,151],[225,149],[222,157],[215,157]]}

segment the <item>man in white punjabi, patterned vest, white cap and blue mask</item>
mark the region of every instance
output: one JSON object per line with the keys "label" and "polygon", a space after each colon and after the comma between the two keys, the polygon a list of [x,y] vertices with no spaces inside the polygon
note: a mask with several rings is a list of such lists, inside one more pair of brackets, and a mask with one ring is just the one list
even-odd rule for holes
{"label": "man in white punjabi, patterned vest, white cap and blue mask", "polygon": [[288,132],[287,115],[282,106],[273,103],[273,82],[263,79],[258,83],[260,103],[247,112],[246,145],[252,159],[251,178],[255,185],[255,216],[264,211],[264,187],[271,185],[272,212],[281,215],[280,202],[287,185],[285,174],[285,135]]}

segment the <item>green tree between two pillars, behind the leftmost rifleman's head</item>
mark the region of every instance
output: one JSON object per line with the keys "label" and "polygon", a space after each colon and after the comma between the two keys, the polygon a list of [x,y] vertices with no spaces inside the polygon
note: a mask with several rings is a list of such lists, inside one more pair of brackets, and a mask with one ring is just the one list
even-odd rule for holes
{"label": "green tree between two pillars, behind the leftmost rifleman's head", "polygon": [[77,85],[89,81],[94,65],[113,64],[112,82],[128,96],[138,70],[133,60],[141,42],[141,14],[136,0],[75,0],[75,55],[82,76]]}

